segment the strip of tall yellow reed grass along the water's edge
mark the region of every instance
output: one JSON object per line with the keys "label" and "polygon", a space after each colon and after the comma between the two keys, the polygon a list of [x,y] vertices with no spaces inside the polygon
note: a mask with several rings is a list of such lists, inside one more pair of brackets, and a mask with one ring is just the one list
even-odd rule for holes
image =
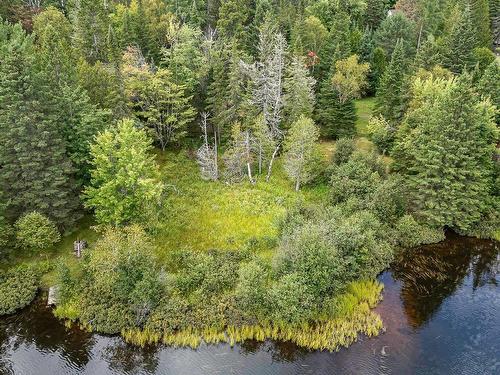
{"label": "strip of tall yellow reed grass along the water's edge", "polygon": [[129,343],[144,346],[163,343],[176,347],[197,348],[207,344],[229,343],[235,345],[245,340],[268,339],[290,341],[311,350],[337,351],[355,342],[360,334],[376,336],[383,329],[378,314],[371,309],[381,300],[383,285],[377,281],[357,281],[334,300],[330,314],[323,312],[318,320],[301,324],[286,322],[256,325],[188,328],[175,333],[160,333],[131,329],[122,331]]}

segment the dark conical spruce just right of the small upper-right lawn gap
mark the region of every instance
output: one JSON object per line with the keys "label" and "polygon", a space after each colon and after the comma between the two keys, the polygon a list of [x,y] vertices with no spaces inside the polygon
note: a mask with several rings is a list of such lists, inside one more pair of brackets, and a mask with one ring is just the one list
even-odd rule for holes
{"label": "dark conical spruce just right of the small upper-right lawn gap", "polygon": [[408,60],[405,58],[404,44],[399,40],[396,43],[391,62],[380,79],[375,100],[375,112],[384,116],[392,125],[398,125],[404,115],[407,69]]}

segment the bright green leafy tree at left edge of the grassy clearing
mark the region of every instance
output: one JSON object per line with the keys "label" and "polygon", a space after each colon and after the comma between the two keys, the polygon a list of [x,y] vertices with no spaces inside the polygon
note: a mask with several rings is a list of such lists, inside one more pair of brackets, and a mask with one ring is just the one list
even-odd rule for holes
{"label": "bright green leafy tree at left edge of the grassy clearing", "polygon": [[96,138],[91,146],[91,183],[84,198],[99,224],[141,222],[146,208],[157,209],[163,185],[151,149],[146,132],[129,119]]}

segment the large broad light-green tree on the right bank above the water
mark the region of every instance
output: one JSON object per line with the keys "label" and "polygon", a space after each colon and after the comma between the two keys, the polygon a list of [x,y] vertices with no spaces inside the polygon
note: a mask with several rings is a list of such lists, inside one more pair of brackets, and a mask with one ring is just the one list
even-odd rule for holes
{"label": "large broad light-green tree on the right bank above the water", "polygon": [[459,79],[417,79],[394,158],[413,210],[436,227],[468,231],[494,204],[494,109]]}

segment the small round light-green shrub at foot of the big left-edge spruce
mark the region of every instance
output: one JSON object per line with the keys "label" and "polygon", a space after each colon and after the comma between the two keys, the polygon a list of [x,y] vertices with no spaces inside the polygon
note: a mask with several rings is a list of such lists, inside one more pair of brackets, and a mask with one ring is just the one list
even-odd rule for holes
{"label": "small round light-green shrub at foot of the big left-edge spruce", "polygon": [[55,224],[36,211],[19,218],[14,227],[18,245],[30,251],[46,250],[61,239]]}

